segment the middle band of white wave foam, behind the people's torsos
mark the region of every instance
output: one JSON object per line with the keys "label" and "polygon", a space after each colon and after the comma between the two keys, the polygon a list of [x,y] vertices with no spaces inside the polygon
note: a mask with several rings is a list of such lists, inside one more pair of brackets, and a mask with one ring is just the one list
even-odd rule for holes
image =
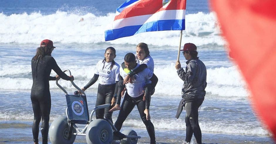
{"label": "middle band of white wave foam, behind the people's torsos", "polygon": [[[68,69],[71,70],[75,77],[74,83],[83,87],[93,77],[95,66],[68,66]],[[80,71],[80,69],[85,69],[85,71]],[[155,88],[155,94],[181,95],[183,81],[177,75],[174,64],[156,66],[154,73],[159,78]],[[28,78],[26,78],[26,75]],[[51,76],[55,76],[54,71],[52,71]],[[0,89],[26,90],[31,89],[32,83],[31,68],[29,65],[16,67],[6,65],[0,68]],[[59,83],[64,88],[74,88],[68,81],[60,80]],[[58,88],[55,85],[55,81],[50,81],[50,88]],[[92,85],[91,88],[97,88],[97,84]],[[241,78],[238,68],[235,66],[207,69],[206,92],[221,97],[248,96],[245,82]]]}

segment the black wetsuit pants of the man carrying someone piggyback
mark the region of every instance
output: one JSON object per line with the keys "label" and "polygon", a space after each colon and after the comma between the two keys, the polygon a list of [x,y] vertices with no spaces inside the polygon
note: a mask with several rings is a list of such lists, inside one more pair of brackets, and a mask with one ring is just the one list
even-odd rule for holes
{"label": "black wetsuit pants of the man carrying someone piggyback", "polygon": [[143,101],[143,96],[144,94],[140,95],[139,97],[133,98],[130,97],[126,92],[121,106],[121,110],[119,112],[117,121],[115,122],[114,126],[117,128],[118,131],[120,131],[123,122],[127,119],[127,116],[130,114],[134,106],[137,105],[140,117],[147,128],[150,137],[150,143],[155,143],[154,126],[150,120],[147,120],[146,114],[144,114],[145,102]]}

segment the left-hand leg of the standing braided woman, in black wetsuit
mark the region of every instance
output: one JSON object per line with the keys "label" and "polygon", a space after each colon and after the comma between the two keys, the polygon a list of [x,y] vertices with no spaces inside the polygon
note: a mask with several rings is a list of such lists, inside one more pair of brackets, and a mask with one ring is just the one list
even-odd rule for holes
{"label": "left-hand leg of the standing braided woman, in black wetsuit", "polygon": [[[104,87],[104,85],[99,84],[97,100],[96,100],[96,107],[98,105],[102,105],[102,104],[105,104],[105,87]],[[103,119],[104,114],[105,114],[105,109],[97,109],[96,110],[96,119]]]}

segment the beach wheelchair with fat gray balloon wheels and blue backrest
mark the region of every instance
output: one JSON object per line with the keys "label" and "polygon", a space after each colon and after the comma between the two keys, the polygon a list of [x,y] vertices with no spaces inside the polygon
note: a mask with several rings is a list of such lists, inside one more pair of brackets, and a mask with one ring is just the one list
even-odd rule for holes
{"label": "beach wheelchair with fat gray balloon wheels and blue backrest", "polygon": [[[71,76],[71,72],[67,69]],[[66,97],[67,108],[66,116],[55,119],[49,128],[49,138],[53,144],[72,144],[76,136],[85,136],[88,144],[110,144],[113,140],[120,140],[122,144],[136,144],[138,138],[134,130],[125,130],[122,133],[117,131],[111,121],[107,119],[94,119],[92,116],[97,109],[104,109],[110,104],[103,104],[95,107],[90,116],[87,107],[86,95],[73,81],[72,85],[82,94],[68,95],[66,90],[58,84],[56,85],[63,90]],[[78,128],[85,125],[84,128]],[[113,133],[116,135],[113,136]]]}

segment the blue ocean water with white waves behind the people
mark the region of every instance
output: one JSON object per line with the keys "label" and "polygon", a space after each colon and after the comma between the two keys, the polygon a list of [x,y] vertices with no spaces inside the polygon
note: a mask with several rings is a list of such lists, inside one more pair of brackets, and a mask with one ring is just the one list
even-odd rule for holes
{"label": "blue ocean water with white waves behind the people", "polygon": [[[53,40],[52,56],[61,69],[70,69],[75,84],[83,87],[94,75],[97,61],[107,47],[115,47],[115,61],[121,63],[128,52],[135,52],[140,42],[149,45],[159,78],[151,100],[151,120],[157,143],[183,143],[186,135],[185,111],[174,116],[181,100],[183,81],[174,68],[180,31],[146,32],[105,42],[104,31],[124,0],[0,0],[0,143],[32,143],[33,111],[31,59],[41,40]],[[79,22],[80,18],[84,21]],[[187,1],[186,30],[182,46],[192,42],[207,68],[205,100],[200,108],[199,124],[203,143],[274,143],[251,108],[250,94],[235,63],[228,57],[227,43],[220,36],[216,14],[206,0]],[[185,59],[180,55],[181,66]],[[55,72],[52,71],[51,76]],[[69,93],[70,82],[59,83]],[[52,99],[50,123],[64,115],[65,94],[50,81]],[[97,83],[86,90],[89,111],[95,107]],[[113,121],[118,111],[113,113]],[[149,136],[138,110],[134,108],[123,124],[134,129],[138,143],[149,143]],[[41,141],[41,134],[39,136]],[[191,143],[195,143],[195,139]],[[85,143],[77,136],[76,143]],[[50,143],[50,141],[49,141]]]}

